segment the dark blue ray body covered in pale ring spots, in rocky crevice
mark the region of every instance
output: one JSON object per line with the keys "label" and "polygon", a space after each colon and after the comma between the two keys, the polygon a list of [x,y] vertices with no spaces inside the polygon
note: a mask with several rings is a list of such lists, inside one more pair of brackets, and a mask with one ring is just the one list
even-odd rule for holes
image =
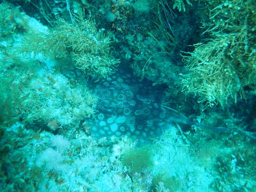
{"label": "dark blue ray body covered in pale ring spots, in rocky crevice", "polygon": [[92,135],[131,135],[141,142],[162,133],[166,111],[161,109],[162,89],[139,81],[131,73],[118,73],[97,83],[98,114],[90,120]]}

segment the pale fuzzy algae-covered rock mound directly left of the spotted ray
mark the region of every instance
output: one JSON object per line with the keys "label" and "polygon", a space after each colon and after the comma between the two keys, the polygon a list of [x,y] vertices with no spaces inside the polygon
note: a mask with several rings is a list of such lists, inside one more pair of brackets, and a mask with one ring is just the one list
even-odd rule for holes
{"label": "pale fuzzy algae-covered rock mound directly left of the spotted ray", "polygon": [[22,118],[28,123],[45,123],[51,131],[74,129],[94,115],[97,103],[97,97],[86,86],[72,85],[65,76],[47,69],[41,69],[21,91],[28,95],[18,109]]}

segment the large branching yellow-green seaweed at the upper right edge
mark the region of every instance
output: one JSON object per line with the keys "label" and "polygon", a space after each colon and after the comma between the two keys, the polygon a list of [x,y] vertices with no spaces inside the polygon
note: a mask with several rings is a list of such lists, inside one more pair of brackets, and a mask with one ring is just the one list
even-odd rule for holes
{"label": "large branching yellow-green seaweed at the upper right edge", "polygon": [[245,89],[255,91],[255,5],[237,0],[209,5],[209,20],[203,20],[209,38],[183,58],[188,69],[182,75],[183,91],[211,107],[227,107],[246,99]]}

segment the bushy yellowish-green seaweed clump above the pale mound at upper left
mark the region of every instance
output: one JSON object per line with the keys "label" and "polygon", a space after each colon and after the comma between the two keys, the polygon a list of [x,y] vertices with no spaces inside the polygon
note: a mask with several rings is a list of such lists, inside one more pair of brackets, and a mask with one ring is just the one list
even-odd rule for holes
{"label": "bushy yellowish-green seaweed clump above the pale mound at upper left", "polygon": [[97,30],[91,20],[55,22],[47,33],[29,33],[23,38],[22,52],[34,51],[54,59],[71,57],[76,68],[94,78],[107,77],[119,63],[111,54],[111,34]]}

